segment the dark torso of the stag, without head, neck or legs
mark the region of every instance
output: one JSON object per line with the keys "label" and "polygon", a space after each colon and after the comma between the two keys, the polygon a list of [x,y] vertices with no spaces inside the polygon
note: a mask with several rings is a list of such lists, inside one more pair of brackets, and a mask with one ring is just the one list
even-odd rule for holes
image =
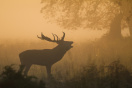
{"label": "dark torso of the stag, without head, neck or legs", "polygon": [[21,63],[46,66],[47,64],[54,64],[61,60],[65,53],[66,51],[62,51],[61,49],[27,50],[19,56]]}

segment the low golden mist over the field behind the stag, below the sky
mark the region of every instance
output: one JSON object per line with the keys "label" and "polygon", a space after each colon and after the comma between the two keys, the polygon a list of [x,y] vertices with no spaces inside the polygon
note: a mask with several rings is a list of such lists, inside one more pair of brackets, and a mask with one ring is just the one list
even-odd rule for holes
{"label": "low golden mist over the field behind the stag, below the sky", "polygon": [[[94,34],[94,32],[92,32]],[[74,35],[69,38],[68,35]],[[60,34],[62,35],[62,34]],[[76,36],[75,36],[76,35]],[[65,56],[53,65],[52,74],[56,78],[67,78],[79,74],[84,67],[90,64],[108,65],[109,63],[120,60],[121,63],[131,69],[131,41],[130,39],[110,39],[107,35],[96,36],[96,33],[89,38],[78,38],[76,31],[73,33],[66,32],[66,41],[73,41],[73,48]],[[83,35],[86,36],[86,35]],[[52,38],[52,35],[51,35]],[[0,43],[0,65],[1,69],[5,65],[20,65],[19,54],[25,50],[52,49],[57,46],[56,43],[40,40],[36,36],[34,39],[4,39]],[[65,70],[63,70],[65,69]],[[37,72],[36,72],[37,71]],[[67,73],[69,72],[69,73]],[[60,74],[58,74],[60,73]],[[30,68],[29,75],[37,77],[46,77],[44,66],[33,65]],[[61,78],[60,78],[61,79]]]}

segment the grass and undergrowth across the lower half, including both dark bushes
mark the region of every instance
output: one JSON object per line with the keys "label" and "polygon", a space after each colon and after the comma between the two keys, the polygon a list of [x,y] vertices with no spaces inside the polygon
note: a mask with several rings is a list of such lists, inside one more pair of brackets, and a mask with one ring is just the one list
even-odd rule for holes
{"label": "grass and undergrowth across the lower half, including both dark bushes", "polygon": [[[102,40],[75,46],[72,53],[69,51],[53,66],[53,78],[45,80],[45,84],[38,81],[45,77],[45,67],[31,67],[29,75],[40,75],[40,79],[37,79],[32,76],[25,77],[22,70],[6,66],[0,75],[0,88],[132,88],[131,43],[129,40]],[[1,66],[19,64],[17,56],[21,51],[40,48],[38,43],[36,46],[29,44],[29,47],[21,43],[17,45],[1,47]],[[42,48],[47,48],[46,44],[41,45]],[[117,58],[120,58],[121,62]]]}

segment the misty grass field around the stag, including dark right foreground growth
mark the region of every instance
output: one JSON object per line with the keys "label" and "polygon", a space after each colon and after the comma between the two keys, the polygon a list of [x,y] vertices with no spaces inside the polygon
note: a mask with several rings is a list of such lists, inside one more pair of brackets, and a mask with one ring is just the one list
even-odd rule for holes
{"label": "misty grass field around the stag, including dark right foreground growth", "polygon": [[[131,88],[131,44],[129,38],[113,40],[107,37],[75,42],[62,60],[53,65],[51,82],[44,66],[33,65],[28,75],[44,80],[49,88]],[[44,41],[3,40],[0,44],[0,70],[2,72],[4,66],[11,64],[18,69],[19,53],[22,51],[52,49],[56,45]]]}

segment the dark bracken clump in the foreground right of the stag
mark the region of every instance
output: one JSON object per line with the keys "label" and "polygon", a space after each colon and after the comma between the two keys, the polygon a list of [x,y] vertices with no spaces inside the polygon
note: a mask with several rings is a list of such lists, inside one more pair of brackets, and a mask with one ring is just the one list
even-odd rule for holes
{"label": "dark bracken clump in the foreground right of the stag", "polygon": [[114,61],[108,66],[87,67],[81,74],[66,84],[68,88],[132,88],[132,75],[128,69]]}

